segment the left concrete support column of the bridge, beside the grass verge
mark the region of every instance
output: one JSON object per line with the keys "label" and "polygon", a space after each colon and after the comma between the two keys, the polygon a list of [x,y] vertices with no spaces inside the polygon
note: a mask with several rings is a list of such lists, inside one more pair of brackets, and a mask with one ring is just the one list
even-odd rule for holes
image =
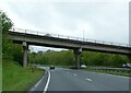
{"label": "left concrete support column of the bridge, beside the grass verge", "polygon": [[28,45],[26,42],[23,42],[23,67],[27,67],[27,50],[28,50]]}

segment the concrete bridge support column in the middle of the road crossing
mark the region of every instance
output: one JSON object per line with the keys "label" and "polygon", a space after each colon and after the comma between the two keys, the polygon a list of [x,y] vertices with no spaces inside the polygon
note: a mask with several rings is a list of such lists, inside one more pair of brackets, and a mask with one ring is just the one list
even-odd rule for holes
{"label": "concrete bridge support column in the middle of the road crossing", "polygon": [[76,69],[80,69],[80,58],[81,58],[82,48],[74,49]]}

